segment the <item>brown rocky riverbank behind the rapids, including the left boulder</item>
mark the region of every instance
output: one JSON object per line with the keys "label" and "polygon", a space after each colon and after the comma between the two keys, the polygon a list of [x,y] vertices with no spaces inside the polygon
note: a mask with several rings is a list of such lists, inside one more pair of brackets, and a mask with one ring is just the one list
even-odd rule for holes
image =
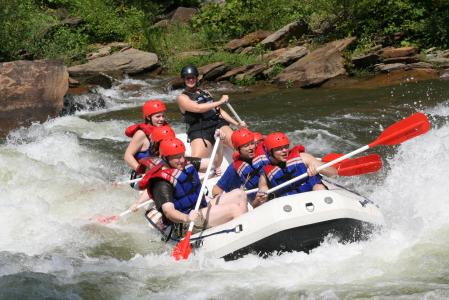
{"label": "brown rocky riverbank behind the rapids, including the left boulder", "polygon": [[[154,26],[188,22],[195,13],[194,9],[178,8],[169,19]],[[356,37],[317,45],[308,38],[309,32],[308,24],[297,21],[277,31],[256,31],[228,41],[222,49],[242,56],[256,55],[258,62],[242,66],[224,61],[198,65],[201,80],[211,89],[220,86],[222,92],[228,93],[251,90],[251,86],[259,89],[261,84],[276,88],[370,88],[449,78],[449,50],[395,48],[379,43],[355,53]],[[53,60],[1,63],[0,131],[4,134],[17,126],[70,114],[85,105],[101,107],[101,99],[99,103],[76,104],[71,95],[87,92],[96,85],[110,88],[125,76],[160,76],[165,78],[167,90],[182,88],[179,76],[168,74],[155,53],[123,42],[95,47],[86,55],[86,63],[70,67]],[[210,50],[187,51],[177,56],[212,54]]]}

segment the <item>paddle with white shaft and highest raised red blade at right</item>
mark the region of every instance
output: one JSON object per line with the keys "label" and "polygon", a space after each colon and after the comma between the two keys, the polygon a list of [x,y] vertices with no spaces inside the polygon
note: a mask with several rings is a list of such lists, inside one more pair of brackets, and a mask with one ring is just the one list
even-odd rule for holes
{"label": "paddle with white shaft and highest raised red blade at right", "polygon": [[[341,161],[344,161],[347,158],[350,158],[356,154],[359,154],[363,151],[368,150],[369,148],[373,148],[379,145],[398,145],[406,140],[414,138],[418,135],[424,134],[430,129],[430,123],[427,119],[426,115],[423,113],[415,113],[408,118],[405,118],[395,124],[391,125],[387,129],[385,129],[382,134],[373,142],[369,143],[366,146],[363,146],[357,150],[354,150],[348,154],[345,154],[339,158],[336,158],[324,165],[319,166],[316,170],[317,172],[333,166]],[[289,184],[292,184],[296,181],[299,181],[303,178],[306,178],[308,175],[304,173],[299,175],[298,177],[292,178],[278,186],[275,186],[267,191],[267,194],[275,192]]]}

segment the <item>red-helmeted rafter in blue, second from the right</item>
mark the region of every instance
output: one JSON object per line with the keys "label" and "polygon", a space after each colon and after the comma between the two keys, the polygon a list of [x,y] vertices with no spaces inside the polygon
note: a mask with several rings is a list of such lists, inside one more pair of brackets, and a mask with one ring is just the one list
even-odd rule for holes
{"label": "red-helmeted rafter in blue, second from the right", "polygon": [[263,146],[256,146],[256,135],[250,130],[237,129],[232,133],[231,140],[237,155],[213,187],[212,195],[238,188],[257,188],[262,169],[269,162]]}

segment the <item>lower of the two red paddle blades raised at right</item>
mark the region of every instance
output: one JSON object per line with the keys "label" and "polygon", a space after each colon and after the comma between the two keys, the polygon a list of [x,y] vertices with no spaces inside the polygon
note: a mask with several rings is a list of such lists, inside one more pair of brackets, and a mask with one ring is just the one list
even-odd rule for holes
{"label": "lower of the two red paddle blades raised at right", "polygon": [[343,161],[338,167],[338,175],[355,176],[377,172],[380,168],[382,168],[382,160],[380,156],[377,154],[370,154],[348,161]]}

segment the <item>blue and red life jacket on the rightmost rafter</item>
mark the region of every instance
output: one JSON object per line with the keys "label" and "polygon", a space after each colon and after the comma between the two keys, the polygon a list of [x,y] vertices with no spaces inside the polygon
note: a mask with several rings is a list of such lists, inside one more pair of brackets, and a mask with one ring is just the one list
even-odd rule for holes
{"label": "blue and red life jacket on the rightmost rafter", "polygon": [[[264,172],[267,175],[268,185],[272,188],[294,177],[307,173],[307,166],[302,161],[299,152],[290,151],[287,161],[285,162],[285,167],[281,168],[280,166],[269,164],[264,167]],[[317,183],[321,183],[320,175],[306,177],[276,191],[274,194],[275,197],[282,197],[286,195],[310,192],[312,191],[313,186]]]}

